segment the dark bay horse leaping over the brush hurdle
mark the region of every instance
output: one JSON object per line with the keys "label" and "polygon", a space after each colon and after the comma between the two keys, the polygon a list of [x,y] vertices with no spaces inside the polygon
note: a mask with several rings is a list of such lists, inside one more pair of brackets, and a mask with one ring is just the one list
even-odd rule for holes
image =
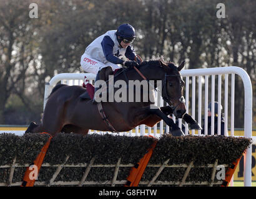
{"label": "dark bay horse leaping over the brush hurdle", "polygon": [[[151,101],[104,102],[102,108],[106,118],[118,132],[130,131],[140,124],[153,127],[163,119],[174,135],[184,135],[179,126],[168,117],[170,113],[173,113],[176,118],[182,118],[186,111],[185,100],[182,96],[184,81],[180,75],[184,62],[176,67],[171,62],[149,60],[142,62],[137,68],[147,80],[162,82],[162,97],[171,106],[157,107]],[[143,78],[134,68],[130,67],[121,68],[121,72],[114,76],[114,81],[117,80],[142,81]],[[104,123],[97,104],[92,104],[92,99],[79,98],[85,91],[86,89],[82,86],[56,85],[47,100],[42,123],[31,123],[26,132],[47,132],[51,136],[56,136],[58,132],[86,135],[89,129],[111,131]],[[147,95],[152,95],[152,93],[154,93],[154,88],[149,90]]]}

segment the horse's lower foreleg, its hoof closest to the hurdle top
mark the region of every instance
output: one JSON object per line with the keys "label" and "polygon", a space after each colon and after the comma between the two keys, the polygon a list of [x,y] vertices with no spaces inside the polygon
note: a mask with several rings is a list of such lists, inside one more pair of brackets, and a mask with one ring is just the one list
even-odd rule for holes
{"label": "horse's lower foreleg, its hoof closest to the hurdle top", "polygon": [[177,124],[174,123],[174,121],[172,119],[170,119],[169,117],[167,117],[165,115],[165,113],[163,113],[159,107],[155,106],[154,108],[150,108],[149,110],[150,114],[155,114],[157,116],[159,116],[159,118],[163,119],[165,121],[165,123],[170,127],[170,131],[172,133],[173,136],[184,136],[184,132],[181,131],[181,129],[179,128],[179,126]]}

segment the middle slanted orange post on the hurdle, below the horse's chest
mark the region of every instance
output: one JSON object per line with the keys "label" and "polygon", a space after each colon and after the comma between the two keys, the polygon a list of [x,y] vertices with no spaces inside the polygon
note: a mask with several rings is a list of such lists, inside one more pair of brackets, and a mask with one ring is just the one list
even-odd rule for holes
{"label": "middle slanted orange post on the hurdle, below the horse's chest", "polygon": [[140,159],[139,163],[132,167],[130,170],[130,175],[127,177],[127,183],[124,185],[125,187],[137,187],[139,185],[140,179],[144,174],[145,167],[147,167],[147,164],[149,163],[150,157],[153,153],[153,150],[155,149],[156,144],[157,141],[152,144],[147,154],[145,154],[144,157]]}

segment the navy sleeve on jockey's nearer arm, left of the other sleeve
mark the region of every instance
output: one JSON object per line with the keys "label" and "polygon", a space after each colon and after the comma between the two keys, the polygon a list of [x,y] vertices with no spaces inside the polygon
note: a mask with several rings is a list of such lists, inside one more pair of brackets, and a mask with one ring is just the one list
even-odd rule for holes
{"label": "navy sleeve on jockey's nearer arm, left of the other sleeve", "polygon": [[124,60],[113,55],[114,42],[111,37],[105,36],[102,39],[101,46],[107,61],[115,64],[122,64],[124,62]]}

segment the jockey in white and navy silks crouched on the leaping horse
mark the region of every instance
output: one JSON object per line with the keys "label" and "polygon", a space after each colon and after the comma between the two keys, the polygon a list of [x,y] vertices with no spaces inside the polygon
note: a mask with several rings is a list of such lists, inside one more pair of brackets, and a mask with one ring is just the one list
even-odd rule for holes
{"label": "jockey in white and navy silks crouched on the leaping horse", "polygon": [[[120,65],[126,67],[139,65],[140,60],[135,61],[136,54],[130,45],[134,39],[135,30],[130,24],[122,24],[117,30],[107,31],[87,46],[81,57],[82,69],[87,73],[97,74],[95,80],[97,81],[102,68],[111,67],[114,71],[121,68]],[[129,60],[124,60],[126,58]],[[86,77],[84,81],[86,81]],[[86,84],[86,82],[84,83]],[[81,98],[83,98],[82,95]]]}

